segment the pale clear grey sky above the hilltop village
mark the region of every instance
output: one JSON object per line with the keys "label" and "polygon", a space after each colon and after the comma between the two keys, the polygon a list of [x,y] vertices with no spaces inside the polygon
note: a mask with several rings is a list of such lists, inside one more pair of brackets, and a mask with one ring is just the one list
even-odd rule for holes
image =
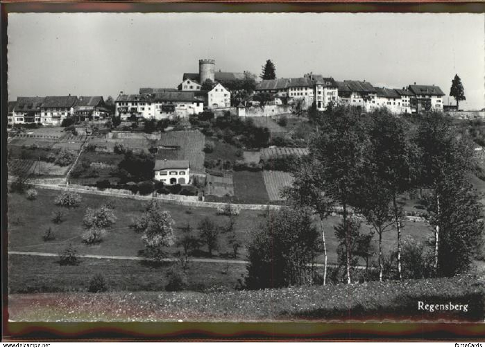
{"label": "pale clear grey sky above the hilltop village", "polygon": [[445,104],[458,74],[460,109],[485,107],[483,14],[10,13],[7,30],[9,100],[175,88],[212,58],[216,71],[259,75],[271,59],[278,78],[435,84]]}

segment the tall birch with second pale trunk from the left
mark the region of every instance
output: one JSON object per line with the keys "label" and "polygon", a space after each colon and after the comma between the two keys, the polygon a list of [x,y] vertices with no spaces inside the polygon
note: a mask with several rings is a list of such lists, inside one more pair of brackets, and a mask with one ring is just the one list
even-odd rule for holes
{"label": "tall birch with second pale trunk from the left", "polygon": [[[367,133],[360,113],[352,107],[340,105],[324,111],[321,132],[310,142],[310,156],[321,163],[321,179],[325,194],[342,206],[342,225],[349,236],[351,226],[349,208],[355,195],[355,182],[364,165],[368,147]],[[336,231],[337,232],[337,231]],[[346,251],[347,283],[351,283],[350,246]]]}

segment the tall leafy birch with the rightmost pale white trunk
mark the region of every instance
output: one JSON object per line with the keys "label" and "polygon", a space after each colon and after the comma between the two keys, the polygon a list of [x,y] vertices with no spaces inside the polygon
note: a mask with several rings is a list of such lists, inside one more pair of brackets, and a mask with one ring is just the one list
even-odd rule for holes
{"label": "tall leafy birch with the rightmost pale white trunk", "polygon": [[453,181],[461,183],[465,180],[473,164],[473,154],[471,147],[458,137],[452,119],[440,112],[423,116],[416,143],[421,153],[420,184],[432,191],[428,210],[435,229],[434,272],[437,275],[440,230],[444,228],[443,221],[439,218],[444,213],[443,202],[453,200],[453,197],[448,197],[453,192],[449,185],[453,185]]}

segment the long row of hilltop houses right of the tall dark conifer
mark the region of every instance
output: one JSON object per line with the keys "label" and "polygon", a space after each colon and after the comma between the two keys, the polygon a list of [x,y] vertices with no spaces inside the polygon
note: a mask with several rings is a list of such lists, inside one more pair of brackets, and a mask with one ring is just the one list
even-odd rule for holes
{"label": "long row of hilltop houses right of the tall dark conifer", "polygon": [[415,82],[401,89],[374,87],[365,80],[335,81],[312,73],[303,78],[263,80],[256,86],[256,93],[269,93],[288,104],[299,103],[302,109],[315,103],[322,111],[334,102],[358,106],[365,111],[386,107],[396,114],[442,111],[445,95],[435,85],[417,85]]}

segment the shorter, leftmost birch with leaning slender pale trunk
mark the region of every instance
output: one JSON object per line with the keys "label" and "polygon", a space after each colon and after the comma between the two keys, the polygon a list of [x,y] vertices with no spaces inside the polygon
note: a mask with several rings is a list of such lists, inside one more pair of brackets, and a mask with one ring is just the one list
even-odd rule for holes
{"label": "shorter, leftmost birch with leaning slender pale trunk", "polygon": [[302,161],[292,174],[294,177],[293,184],[291,187],[285,188],[283,195],[294,206],[313,209],[319,217],[324,255],[323,285],[325,285],[327,279],[327,246],[323,221],[332,212],[334,201],[324,194],[322,163],[315,158],[307,158]]}

